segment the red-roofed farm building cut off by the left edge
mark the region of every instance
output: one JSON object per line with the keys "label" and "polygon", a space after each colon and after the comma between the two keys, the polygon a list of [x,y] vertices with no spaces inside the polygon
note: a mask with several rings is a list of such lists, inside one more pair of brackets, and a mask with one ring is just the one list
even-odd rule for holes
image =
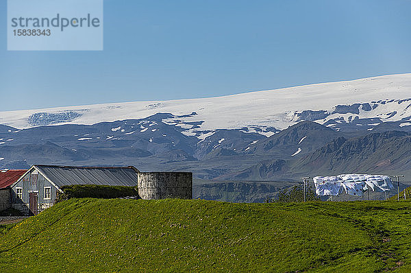
{"label": "red-roofed farm building cut off by the left edge", "polygon": [[0,211],[9,209],[11,206],[10,189],[14,182],[21,178],[27,169],[3,169],[0,171]]}

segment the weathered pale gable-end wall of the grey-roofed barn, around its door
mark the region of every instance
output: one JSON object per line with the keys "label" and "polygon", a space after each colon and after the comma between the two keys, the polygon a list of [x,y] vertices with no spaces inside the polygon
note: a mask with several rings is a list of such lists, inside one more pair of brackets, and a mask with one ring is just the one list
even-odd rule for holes
{"label": "weathered pale gable-end wall of the grey-roofed barn, around its door", "polygon": [[[23,198],[18,198],[16,188],[23,188]],[[51,198],[45,199],[45,187],[51,187]],[[18,209],[25,215],[29,215],[29,193],[36,192],[38,194],[38,213],[53,206],[57,189],[46,180],[44,176],[38,174],[35,169],[31,173],[27,173],[21,178],[16,185],[11,189],[12,208]]]}

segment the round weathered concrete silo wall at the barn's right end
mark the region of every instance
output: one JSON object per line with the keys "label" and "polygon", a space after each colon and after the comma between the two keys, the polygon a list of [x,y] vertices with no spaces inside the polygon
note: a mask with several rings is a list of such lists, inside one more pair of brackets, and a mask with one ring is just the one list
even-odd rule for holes
{"label": "round weathered concrete silo wall at the barn's right end", "polygon": [[142,199],[192,198],[192,173],[138,173],[138,195]]}

